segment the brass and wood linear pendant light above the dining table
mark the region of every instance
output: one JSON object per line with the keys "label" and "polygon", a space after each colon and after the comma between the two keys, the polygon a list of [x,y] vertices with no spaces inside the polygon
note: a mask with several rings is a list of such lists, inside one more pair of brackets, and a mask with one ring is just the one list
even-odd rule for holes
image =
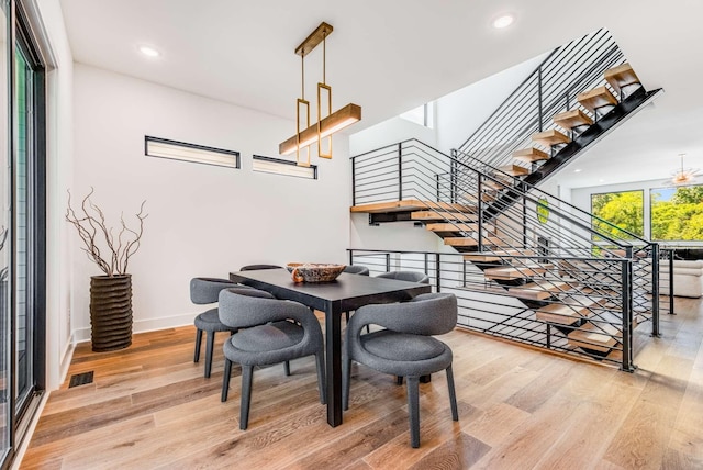
{"label": "brass and wood linear pendant light above the dining table", "polygon": [[[278,152],[288,155],[295,152],[298,165],[310,166],[310,145],[317,143],[317,155],[322,158],[332,158],[332,134],[354,124],[361,119],[361,107],[349,103],[339,110],[332,112],[332,87],[326,83],[326,38],[333,27],[322,22],[297,48],[295,54],[301,56],[302,93],[297,101],[295,135],[280,143]],[[317,121],[310,124],[310,102],[305,100],[305,68],[304,59],[320,43],[323,44],[322,56],[322,82],[317,83]],[[323,94],[326,96],[326,105],[323,107]],[[325,115],[323,116],[323,109]],[[301,116],[301,110],[304,110]],[[305,118],[303,121],[302,118]],[[326,145],[323,141],[327,139]],[[305,148],[306,159],[301,160],[301,149]]]}

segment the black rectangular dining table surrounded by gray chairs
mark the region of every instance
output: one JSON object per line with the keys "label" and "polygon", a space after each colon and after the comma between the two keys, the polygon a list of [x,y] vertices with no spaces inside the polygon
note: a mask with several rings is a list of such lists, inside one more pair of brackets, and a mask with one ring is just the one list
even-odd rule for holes
{"label": "black rectangular dining table surrounded by gray chairs", "polygon": [[327,423],[342,424],[342,314],[364,305],[393,303],[432,291],[429,284],[343,272],[331,282],[293,282],[287,269],[230,273],[234,282],[324,312]]}

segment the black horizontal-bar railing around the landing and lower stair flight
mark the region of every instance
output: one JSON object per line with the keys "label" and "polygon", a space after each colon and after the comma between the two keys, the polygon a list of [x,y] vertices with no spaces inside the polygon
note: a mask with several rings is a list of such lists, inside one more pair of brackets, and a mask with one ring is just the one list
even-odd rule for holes
{"label": "black horizontal-bar railing around the landing and lower stair flight", "polygon": [[[517,183],[471,156],[448,156],[415,139],[356,156],[353,168],[358,182],[355,205],[413,200],[414,205],[439,213],[439,222],[454,228],[451,234],[440,234],[447,235],[445,243],[467,242],[468,251],[456,255],[457,262],[462,261],[461,269],[445,272],[444,266],[434,273],[438,289],[459,289],[473,296],[490,294],[504,298],[501,305],[512,305],[511,314],[467,313],[464,326],[614,360],[625,370],[633,367],[634,325],[651,321],[651,333],[658,335],[656,244],[537,188]],[[500,200],[483,200],[484,187],[490,184],[503,186]],[[549,201],[547,221],[538,211],[544,204],[540,198]],[[609,232],[599,227],[609,227]],[[464,250],[465,245],[457,249]],[[494,260],[483,262],[481,257]],[[371,268],[373,262],[366,261],[369,259],[360,262],[352,258],[352,262]],[[391,265],[388,259],[381,264],[386,270]],[[415,268],[431,273],[432,266],[425,260]],[[512,270],[505,275],[507,279],[501,278],[504,269]],[[518,280],[524,278],[533,286],[522,286]],[[549,293],[546,296],[545,291]],[[559,324],[560,318],[565,324]],[[590,337],[605,338],[606,346],[589,344]]]}

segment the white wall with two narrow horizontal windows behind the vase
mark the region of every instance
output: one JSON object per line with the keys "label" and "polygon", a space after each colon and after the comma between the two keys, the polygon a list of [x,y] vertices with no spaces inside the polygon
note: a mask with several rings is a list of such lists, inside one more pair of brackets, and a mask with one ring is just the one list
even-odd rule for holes
{"label": "white wall with two narrow horizontal windows behind the vase", "polygon": [[[191,323],[201,310],[189,300],[194,276],[346,260],[346,136],[335,135],[332,160],[313,160],[319,180],[254,174],[252,154],[278,157],[294,122],[80,64],[74,96],[75,197],[94,187],[113,223],[146,200],[142,248],[130,264],[136,332]],[[145,135],[238,150],[242,169],[146,157]],[[89,277],[100,271],[85,255],[75,261],[74,327],[88,338]]]}

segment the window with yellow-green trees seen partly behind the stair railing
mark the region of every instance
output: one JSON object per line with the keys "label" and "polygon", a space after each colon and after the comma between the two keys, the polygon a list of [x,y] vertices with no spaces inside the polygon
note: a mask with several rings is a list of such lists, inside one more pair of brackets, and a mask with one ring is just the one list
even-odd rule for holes
{"label": "window with yellow-green trees seen partly behind the stair railing", "polygon": [[[591,213],[634,235],[645,233],[645,192],[622,191],[591,194]],[[593,228],[614,238],[632,238],[607,223],[593,220]],[[595,237],[594,237],[595,239]]]}

